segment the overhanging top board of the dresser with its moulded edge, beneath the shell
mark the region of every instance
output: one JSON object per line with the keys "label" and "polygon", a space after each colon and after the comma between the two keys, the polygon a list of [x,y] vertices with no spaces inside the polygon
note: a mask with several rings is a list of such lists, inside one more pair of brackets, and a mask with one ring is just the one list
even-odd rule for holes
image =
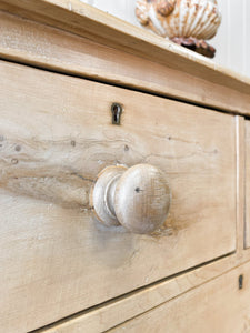
{"label": "overhanging top board of the dresser with its moulded edge, beneath the shell", "polygon": [[79,0],[0,0],[0,9],[248,93],[250,79]]}

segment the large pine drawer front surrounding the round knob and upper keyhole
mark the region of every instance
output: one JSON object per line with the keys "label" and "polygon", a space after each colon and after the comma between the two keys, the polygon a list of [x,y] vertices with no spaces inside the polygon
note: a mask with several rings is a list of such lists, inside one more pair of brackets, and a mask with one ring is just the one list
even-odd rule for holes
{"label": "large pine drawer front surrounding the round knob and upper keyhole", "polygon": [[[236,249],[232,115],[0,63],[0,313],[33,330]],[[120,125],[110,108],[123,105]],[[168,178],[164,228],[104,226],[89,192],[106,167]]]}

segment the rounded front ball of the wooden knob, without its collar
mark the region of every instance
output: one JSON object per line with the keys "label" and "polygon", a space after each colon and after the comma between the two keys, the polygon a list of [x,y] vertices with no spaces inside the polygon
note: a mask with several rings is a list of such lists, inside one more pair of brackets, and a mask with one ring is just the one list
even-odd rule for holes
{"label": "rounded front ball of the wooden knob, without its collar", "polygon": [[119,222],[134,233],[159,232],[171,201],[166,174],[149,164],[137,164],[119,179],[114,193],[114,211]]}

